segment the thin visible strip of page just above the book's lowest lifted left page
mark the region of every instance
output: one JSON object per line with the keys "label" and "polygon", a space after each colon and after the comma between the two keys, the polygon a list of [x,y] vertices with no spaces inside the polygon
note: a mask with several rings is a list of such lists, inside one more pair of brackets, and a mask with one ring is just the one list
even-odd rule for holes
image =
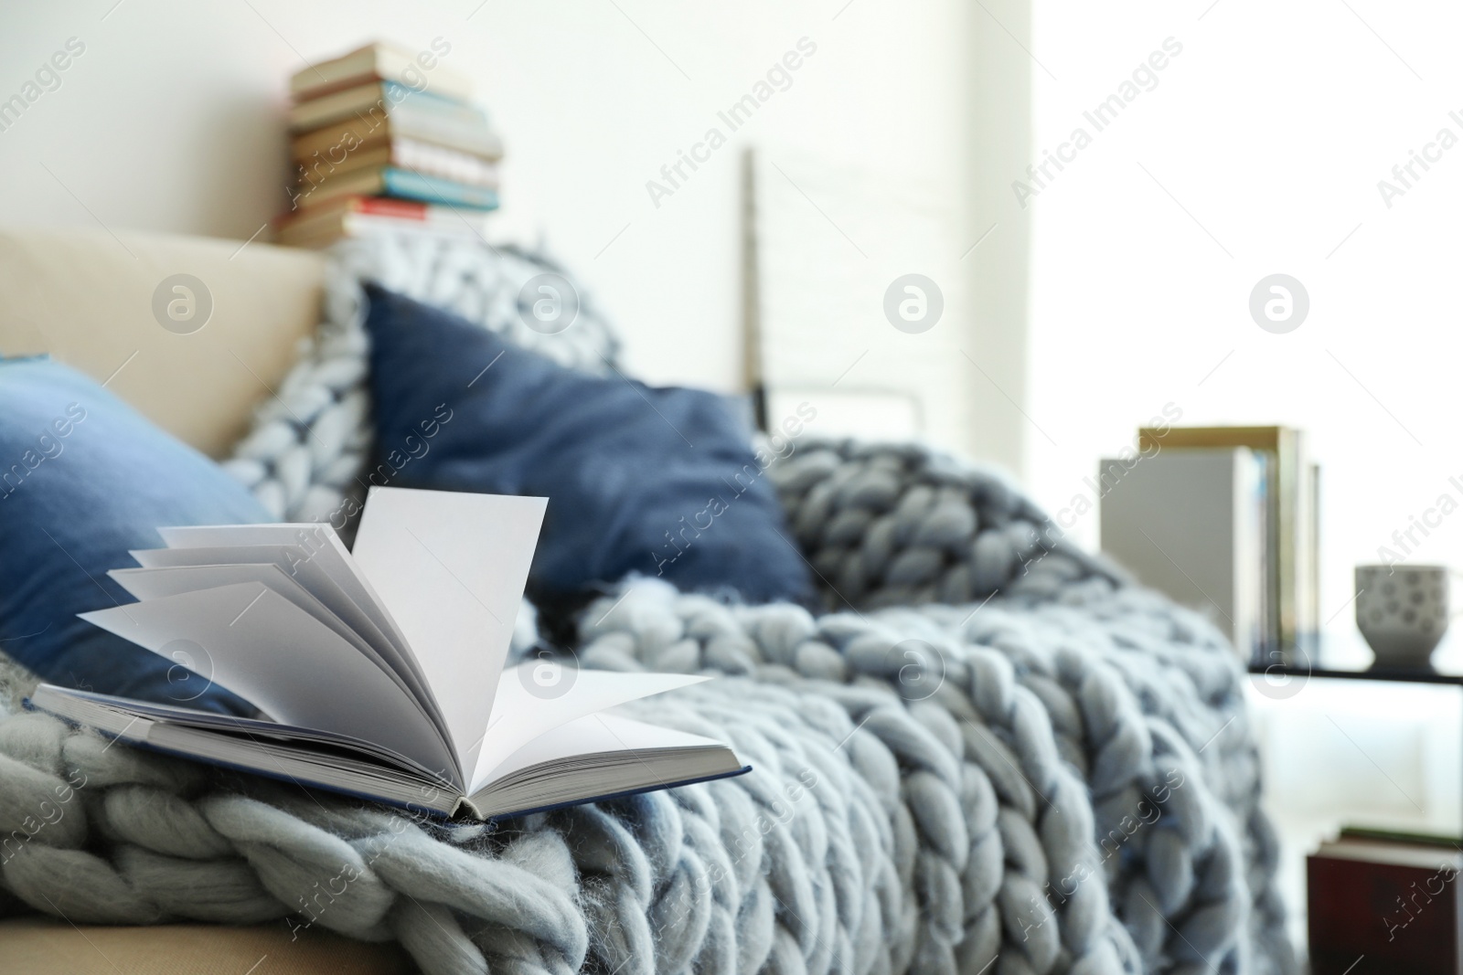
{"label": "thin visible strip of page just above the book's lowest lifted left page", "polygon": [[440,715],[433,715],[430,707],[432,696],[423,693],[417,678],[410,672],[398,672],[376,652],[356,630],[331,612],[323,602],[316,599],[298,582],[285,574],[275,564],[238,564],[238,566],[165,566],[155,569],[113,569],[107,573],[117,585],[130,592],[138,599],[161,599],[176,596],[183,592],[198,592],[199,589],[215,589],[231,586],[240,582],[259,582],[269,586],[300,610],[309,612],[317,623],[326,626],[342,640],[354,646],[361,655],[382,668],[401,688],[411,694],[423,713],[426,713],[437,729],[446,737],[446,725]]}

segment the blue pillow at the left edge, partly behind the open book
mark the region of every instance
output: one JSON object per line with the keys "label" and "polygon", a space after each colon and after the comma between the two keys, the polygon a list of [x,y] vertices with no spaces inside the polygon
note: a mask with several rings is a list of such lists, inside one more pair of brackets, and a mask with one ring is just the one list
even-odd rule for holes
{"label": "blue pillow at the left edge, partly behind the open book", "polygon": [[161,547],[159,526],[268,520],[222,468],[86,376],[48,358],[0,361],[0,650],[42,678],[253,713],[206,674],[76,614],[133,602],[107,570],[136,564],[130,548]]}

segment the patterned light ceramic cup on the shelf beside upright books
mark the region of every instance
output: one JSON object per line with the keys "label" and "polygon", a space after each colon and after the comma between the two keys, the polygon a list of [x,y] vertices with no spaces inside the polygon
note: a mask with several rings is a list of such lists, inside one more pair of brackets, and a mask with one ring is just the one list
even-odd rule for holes
{"label": "patterned light ceramic cup on the shelf beside upright books", "polygon": [[1444,566],[1356,566],[1356,629],[1377,653],[1374,667],[1429,667],[1448,629]]}

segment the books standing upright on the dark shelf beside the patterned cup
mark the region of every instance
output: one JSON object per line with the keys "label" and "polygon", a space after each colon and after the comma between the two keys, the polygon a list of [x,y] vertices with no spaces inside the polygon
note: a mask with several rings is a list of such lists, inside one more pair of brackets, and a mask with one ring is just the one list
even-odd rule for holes
{"label": "books standing upright on the dark shelf beside the patterned cup", "polygon": [[1102,548],[1206,611],[1251,662],[1314,656],[1320,468],[1292,427],[1144,427],[1097,474]]}

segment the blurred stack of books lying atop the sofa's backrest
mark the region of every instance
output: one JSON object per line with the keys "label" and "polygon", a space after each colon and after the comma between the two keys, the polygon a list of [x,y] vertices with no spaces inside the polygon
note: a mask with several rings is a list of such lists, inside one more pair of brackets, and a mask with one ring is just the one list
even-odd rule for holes
{"label": "blurred stack of books lying atop the sofa's backrest", "polygon": [[290,79],[293,189],[281,244],[379,229],[477,237],[503,145],[435,51],[370,44]]}

